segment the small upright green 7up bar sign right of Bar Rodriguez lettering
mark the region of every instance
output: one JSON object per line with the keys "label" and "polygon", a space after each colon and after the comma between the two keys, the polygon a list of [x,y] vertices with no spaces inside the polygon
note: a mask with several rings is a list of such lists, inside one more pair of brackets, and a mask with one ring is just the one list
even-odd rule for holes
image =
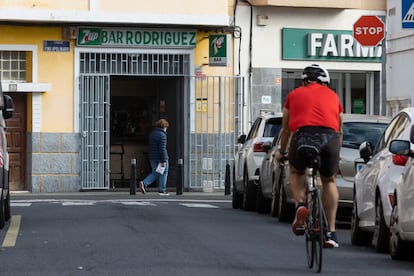
{"label": "small upright green 7up bar sign right of Bar Rodriguez lettering", "polygon": [[230,38],[227,34],[210,35],[209,36],[209,60],[210,66],[228,66],[230,58],[228,58]]}

